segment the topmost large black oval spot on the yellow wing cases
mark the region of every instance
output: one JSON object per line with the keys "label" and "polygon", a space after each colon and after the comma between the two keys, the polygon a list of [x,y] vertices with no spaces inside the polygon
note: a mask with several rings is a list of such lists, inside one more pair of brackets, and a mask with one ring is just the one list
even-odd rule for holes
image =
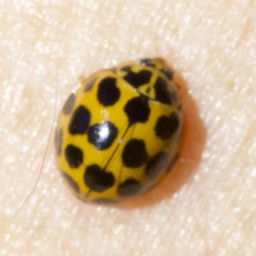
{"label": "topmost large black oval spot on the yellow wing cases", "polygon": [[105,107],[113,106],[120,98],[120,90],[114,77],[106,77],[99,83],[97,99]]}

